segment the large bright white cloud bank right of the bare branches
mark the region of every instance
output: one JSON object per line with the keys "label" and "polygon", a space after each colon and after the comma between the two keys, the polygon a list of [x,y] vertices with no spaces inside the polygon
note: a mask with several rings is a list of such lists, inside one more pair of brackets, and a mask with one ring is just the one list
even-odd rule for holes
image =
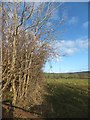
{"label": "large bright white cloud bank right of the bare branches", "polygon": [[81,50],[88,49],[88,39],[86,38],[79,38],[76,40],[59,40],[54,43],[54,48],[57,49],[61,55],[73,55]]}

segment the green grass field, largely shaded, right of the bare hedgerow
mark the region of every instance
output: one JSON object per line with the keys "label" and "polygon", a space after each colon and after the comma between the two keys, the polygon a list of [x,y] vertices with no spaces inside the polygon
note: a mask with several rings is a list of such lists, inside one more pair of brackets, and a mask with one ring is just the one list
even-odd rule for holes
{"label": "green grass field, largely shaded, right of the bare hedgerow", "polygon": [[88,79],[46,79],[45,83],[45,100],[53,108],[47,117],[88,117]]}

